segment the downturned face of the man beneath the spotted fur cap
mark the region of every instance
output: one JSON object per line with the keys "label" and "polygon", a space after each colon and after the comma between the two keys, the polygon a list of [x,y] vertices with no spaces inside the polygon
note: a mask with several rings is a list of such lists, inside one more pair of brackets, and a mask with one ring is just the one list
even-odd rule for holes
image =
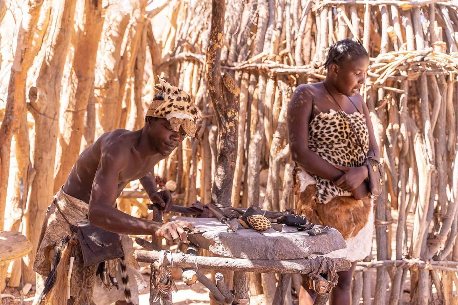
{"label": "downturned face of the man beneath the spotted fur cap", "polygon": [[165,118],[148,118],[148,139],[152,148],[159,154],[168,156],[185,139],[185,131],[180,127],[176,132]]}

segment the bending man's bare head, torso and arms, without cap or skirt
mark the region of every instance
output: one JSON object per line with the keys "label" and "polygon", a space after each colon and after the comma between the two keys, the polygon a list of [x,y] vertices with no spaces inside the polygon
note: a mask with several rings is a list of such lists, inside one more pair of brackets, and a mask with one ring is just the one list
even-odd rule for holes
{"label": "bending man's bare head, torso and arms, without cap or skirt", "polygon": [[174,131],[165,118],[147,117],[136,131],[116,129],[103,134],[82,152],[73,166],[63,191],[89,204],[91,225],[118,234],[155,235],[169,244],[181,238],[192,224],[184,221],[158,223],[140,219],[116,209],[115,201],[127,183],[139,179],[153,203],[168,212],[172,196],[157,192],[154,166],[183,141],[185,131]]}

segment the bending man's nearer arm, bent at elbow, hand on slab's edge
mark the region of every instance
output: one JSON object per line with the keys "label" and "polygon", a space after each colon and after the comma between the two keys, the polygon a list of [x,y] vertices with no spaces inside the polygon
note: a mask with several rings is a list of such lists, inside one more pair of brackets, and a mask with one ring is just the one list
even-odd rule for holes
{"label": "bending man's nearer arm, bent at elbow, hand on slab's edge", "polygon": [[192,224],[184,221],[172,221],[166,224],[140,219],[114,208],[113,203],[117,198],[118,177],[127,164],[128,152],[120,147],[115,147],[107,152],[104,149],[94,177],[94,182],[89,200],[88,218],[91,225],[118,234],[155,235],[166,238],[169,243],[177,242],[179,238],[186,241],[183,230],[193,229]]}

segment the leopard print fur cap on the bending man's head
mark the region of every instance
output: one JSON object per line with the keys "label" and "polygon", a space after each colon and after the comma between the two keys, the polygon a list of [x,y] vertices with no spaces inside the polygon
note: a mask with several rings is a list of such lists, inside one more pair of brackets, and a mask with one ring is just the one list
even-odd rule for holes
{"label": "leopard print fur cap on the bending man's head", "polygon": [[164,101],[153,100],[146,112],[147,117],[165,118],[176,132],[183,127],[191,138],[200,140],[196,123],[201,120],[199,109],[191,102],[191,96],[180,88],[159,77],[159,84],[154,86]]}

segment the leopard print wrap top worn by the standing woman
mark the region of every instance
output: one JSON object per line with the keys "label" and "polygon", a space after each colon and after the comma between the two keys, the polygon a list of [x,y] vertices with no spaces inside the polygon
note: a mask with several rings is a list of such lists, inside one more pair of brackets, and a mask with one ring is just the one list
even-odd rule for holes
{"label": "leopard print wrap top worn by the standing woman", "polygon": [[[347,114],[358,133],[365,151],[342,111],[321,112],[309,124],[309,149],[331,164],[340,166],[362,166],[369,149],[369,132],[364,113]],[[334,185],[333,181],[312,175],[316,180],[316,197],[327,203],[336,196],[351,196],[351,193]]]}

